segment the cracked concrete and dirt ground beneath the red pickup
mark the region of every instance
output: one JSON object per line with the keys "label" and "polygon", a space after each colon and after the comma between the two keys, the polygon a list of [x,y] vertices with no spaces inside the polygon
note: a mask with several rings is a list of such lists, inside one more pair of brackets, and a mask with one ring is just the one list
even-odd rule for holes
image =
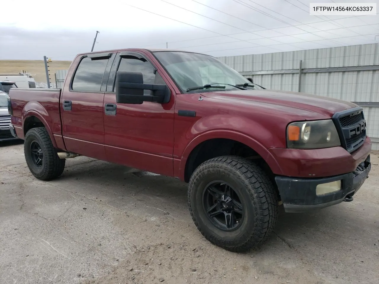
{"label": "cracked concrete and dirt ground beneath the red pickup", "polygon": [[42,182],[21,143],[0,145],[1,284],[378,283],[378,153],[353,202],[281,211],[268,243],[238,254],[197,231],[186,184],[85,157]]}

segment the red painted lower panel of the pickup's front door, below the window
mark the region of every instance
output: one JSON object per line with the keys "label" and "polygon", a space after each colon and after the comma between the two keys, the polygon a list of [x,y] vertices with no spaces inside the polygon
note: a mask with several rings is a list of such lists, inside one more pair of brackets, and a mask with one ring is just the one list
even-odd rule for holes
{"label": "red painted lower panel of the pickup's front door, below the window", "polygon": [[174,101],[117,104],[114,94],[105,94],[104,103],[117,105],[117,115],[104,114],[107,160],[172,176]]}

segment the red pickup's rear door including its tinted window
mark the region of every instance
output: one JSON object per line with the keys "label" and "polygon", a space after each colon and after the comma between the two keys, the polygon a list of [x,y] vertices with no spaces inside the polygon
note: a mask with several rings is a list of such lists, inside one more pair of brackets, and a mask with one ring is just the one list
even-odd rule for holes
{"label": "red pickup's rear door including its tinted window", "polygon": [[[68,73],[61,95],[61,119],[67,151],[105,160],[103,101],[105,78],[113,53],[99,53],[77,59],[77,69]],[[74,62],[75,64],[75,62]]]}

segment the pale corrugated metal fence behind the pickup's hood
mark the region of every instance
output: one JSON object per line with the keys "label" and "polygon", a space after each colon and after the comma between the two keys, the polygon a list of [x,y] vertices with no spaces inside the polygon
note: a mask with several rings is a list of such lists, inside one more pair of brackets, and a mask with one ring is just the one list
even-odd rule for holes
{"label": "pale corrugated metal fence behind the pickup's hood", "polygon": [[[377,103],[378,106],[363,106],[363,109],[368,124],[367,134],[373,141],[373,149],[379,150],[378,52],[378,44],[366,44],[219,59],[245,77],[252,77],[255,83],[263,87],[294,92],[299,91],[301,60],[302,70],[307,69],[307,73],[301,73],[301,92],[365,102],[362,105]],[[354,70],[358,66],[373,70]]]}

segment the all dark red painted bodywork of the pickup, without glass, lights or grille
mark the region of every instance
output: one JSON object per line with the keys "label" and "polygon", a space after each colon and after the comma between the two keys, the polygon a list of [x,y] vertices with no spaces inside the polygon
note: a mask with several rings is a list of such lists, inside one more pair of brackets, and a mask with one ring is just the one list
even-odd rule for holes
{"label": "all dark red painted bodywork of the pickup, without glass, lights or grille", "polygon": [[[191,151],[208,139],[226,138],[254,149],[277,175],[323,177],[352,172],[371,150],[366,139],[358,150],[342,147],[296,150],[286,148],[288,123],[330,119],[353,103],[280,91],[232,91],[180,94],[149,51],[144,54],[171,90],[169,103],[117,104],[112,92],[72,92],[70,81],[82,55],[70,66],[62,92],[12,89],[12,123],[23,138],[23,123],[40,119],[55,147],[110,162],[184,179]],[[107,51],[103,51],[107,52]],[[111,51],[117,52],[117,51]],[[103,89],[102,89],[103,90]],[[63,110],[63,100],[72,110]],[[106,115],[105,103],[116,104],[117,114]],[[195,111],[195,117],[179,110]]]}

